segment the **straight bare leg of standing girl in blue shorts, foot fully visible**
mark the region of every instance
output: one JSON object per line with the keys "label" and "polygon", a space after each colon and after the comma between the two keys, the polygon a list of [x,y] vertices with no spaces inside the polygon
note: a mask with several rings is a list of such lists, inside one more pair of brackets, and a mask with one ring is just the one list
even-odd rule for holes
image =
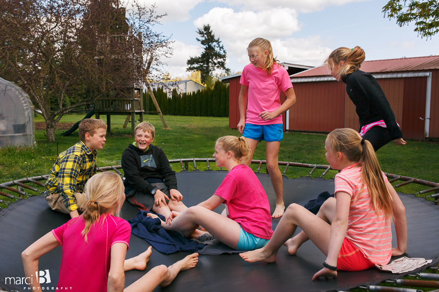
{"label": "straight bare leg of standing girl in blue shorts, foot fully visible", "polygon": [[271,184],[276,194],[276,209],[271,217],[279,218],[283,215],[285,204],[283,203],[282,174],[279,170],[279,147],[280,141],[267,142],[265,156],[267,158],[267,170],[270,174]]}

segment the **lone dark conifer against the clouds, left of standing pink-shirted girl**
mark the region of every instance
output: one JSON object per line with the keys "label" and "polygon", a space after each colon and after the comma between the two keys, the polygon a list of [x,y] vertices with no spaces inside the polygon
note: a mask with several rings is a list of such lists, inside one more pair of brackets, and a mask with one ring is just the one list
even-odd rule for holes
{"label": "lone dark conifer against the clouds, left of standing pink-shirted girl", "polygon": [[215,70],[215,68],[228,71],[225,67],[226,51],[221,44],[220,38],[215,38],[209,24],[204,24],[202,29],[198,32],[200,42],[204,52],[199,57],[190,57],[187,60],[187,71],[200,71],[201,82],[206,83],[208,76]]}

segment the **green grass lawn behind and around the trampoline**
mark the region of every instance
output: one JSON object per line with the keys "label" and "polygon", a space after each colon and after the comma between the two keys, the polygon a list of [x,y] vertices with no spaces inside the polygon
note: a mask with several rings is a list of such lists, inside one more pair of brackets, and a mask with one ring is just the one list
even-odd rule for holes
{"label": "green grass lawn behind and around the trampoline", "polygon": [[[61,122],[77,122],[85,114],[65,115]],[[101,118],[106,121],[105,116]],[[130,124],[122,129],[126,116],[112,116],[112,132],[107,134],[107,141],[98,154],[98,166],[120,164],[122,151],[129,143],[134,141],[130,134]],[[211,158],[214,152],[215,141],[224,135],[239,135],[238,130],[228,128],[228,118],[213,117],[182,117],[165,116],[169,130],[162,127],[159,116],[149,115],[144,117],[156,127],[156,136],[153,144],[160,146],[168,156],[168,159],[178,158]],[[36,122],[42,122],[40,115],[36,115]],[[44,130],[36,131],[37,146],[32,148],[6,148],[0,149],[0,183],[9,182],[25,177],[48,174],[57,158],[57,153],[64,151],[79,142],[78,131],[69,137],[60,134],[65,130],[56,130],[57,142],[47,143]],[[287,132],[280,145],[279,161],[298,162],[306,164],[327,165],[324,153],[325,134]],[[409,176],[430,182],[439,182],[439,161],[433,159],[433,153],[438,153],[439,143],[423,141],[407,141],[405,146],[396,146],[390,143],[382,147],[378,153],[378,159],[384,172]],[[265,159],[265,143],[258,146],[253,157],[255,160]],[[180,164],[172,165],[173,169],[180,171]],[[206,169],[205,163],[198,163],[201,170]],[[213,169],[215,163],[210,164]],[[252,167],[256,170],[257,164]],[[189,169],[193,169],[189,164]],[[281,172],[284,166],[280,166]],[[289,178],[306,176],[311,168],[289,167],[286,175]],[[262,165],[261,172],[265,172]],[[317,169],[312,177],[319,177],[322,169]],[[336,171],[329,171],[325,178],[333,178]],[[400,183],[400,181],[399,181]],[[416,193],[427,187],[409,184],[398,188],[404,193]],[[9,191],[1,190],[9,193]],[[4,200],[4,197],[1,197]],[[4,204],[0,204],[5,207]]]}

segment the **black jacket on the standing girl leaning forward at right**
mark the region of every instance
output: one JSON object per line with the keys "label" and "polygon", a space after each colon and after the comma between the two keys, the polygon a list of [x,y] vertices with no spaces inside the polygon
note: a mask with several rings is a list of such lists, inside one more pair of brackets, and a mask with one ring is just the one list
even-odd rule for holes
{"label": "black jacket on the standing girl leaning forward at right", "polygon": [[402,138],[389,101],[372,74],[357,70],[343,76],[342,80],[346,83],[346,92],[355,105],[360,130],[365,125],[384,120],[391,139]]}

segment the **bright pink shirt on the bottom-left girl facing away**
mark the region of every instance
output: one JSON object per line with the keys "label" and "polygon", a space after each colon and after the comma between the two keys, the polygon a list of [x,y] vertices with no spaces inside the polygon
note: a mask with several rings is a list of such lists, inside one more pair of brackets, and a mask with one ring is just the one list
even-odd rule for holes
{"label": "bright pink shirt on the bottom-left girl facing away", "polygon": [[122,242],[129,247],[131,226],[124,219],[102,216],[91,226],[87,243],[81,235],[84,226],[85,221],[81,216],[52,230],[62,246],[57,287],[68,287],[69,291],[106,292],[111,246]]}

